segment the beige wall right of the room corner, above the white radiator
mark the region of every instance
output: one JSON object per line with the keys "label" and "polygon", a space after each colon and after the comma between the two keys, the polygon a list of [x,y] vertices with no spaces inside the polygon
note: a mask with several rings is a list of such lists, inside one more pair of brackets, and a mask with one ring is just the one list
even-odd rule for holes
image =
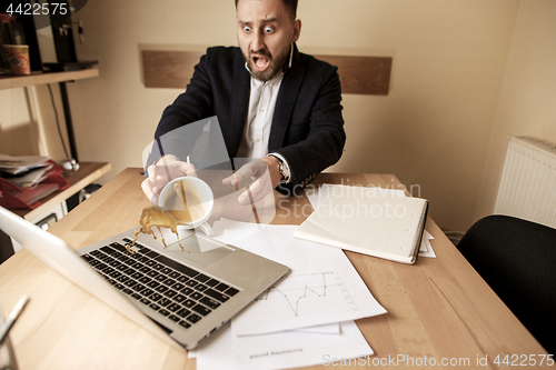
{"label": "beige wall right of the room corner, above the white radiator", "polygon": [[520,1],[475,219],[494,208],[507,139],[532,136],[556,143],[556,2]]}

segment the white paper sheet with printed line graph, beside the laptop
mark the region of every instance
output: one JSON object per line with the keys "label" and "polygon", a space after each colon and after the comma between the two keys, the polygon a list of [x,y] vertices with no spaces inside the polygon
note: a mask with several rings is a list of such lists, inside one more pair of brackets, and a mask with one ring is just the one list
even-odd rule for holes
{"label": "white paper sheet with printed line graph, beside the laptop", "polygon": [[[214,238],[286,264],[291,272],[232,319],[235,334],[270,333],[386,313],[340,249],[295,239],[295,226],[265,226],[251,233],[254,227],[220,220],[214,224]],[[230,240],[240,230],[248,237]]]}

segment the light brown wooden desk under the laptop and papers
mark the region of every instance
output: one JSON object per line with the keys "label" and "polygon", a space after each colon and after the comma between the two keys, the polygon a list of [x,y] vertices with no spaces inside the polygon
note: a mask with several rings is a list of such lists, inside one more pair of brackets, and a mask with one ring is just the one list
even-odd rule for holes
{"label": "light brown wooden desk under the laptop and papers", "polygon": [[[49,231],[77,249],[137,227],[140,210],[149,203],[141,192],[141,180],[139,169],[127,169]],[[314,183],[324,182],[383,187],[399,183],[390,174],[348,173],[321,173]],[[310,210],[305,197],[276,197],[281,201],[276,223],[299,223],[306,217],[304,210]],[[497,357],[503,361],[506,356],[533,354],[539,360],[538,354],[546,354],[433,220],[428,219],[426,229],[435,237],[437,258],[420,258],[415,266],[346,253],[388,310],[385,316],[357,321],[377,361],[391,368],[386,361],[398,354],[435,358],[438,363],[443,359],[468,359],[468,363],[459,362],[460,368],[492,369],[498,368],[493,363]],[[22,370],[196,368],[186,352],[137,327],[26,250],[0,267],[4,311],[9,312],[24,292],[31,301],[11,332]],[[476,366],[477,358],[485,356],[488,366]],[[457,366],[448,362],[438,368]]]}

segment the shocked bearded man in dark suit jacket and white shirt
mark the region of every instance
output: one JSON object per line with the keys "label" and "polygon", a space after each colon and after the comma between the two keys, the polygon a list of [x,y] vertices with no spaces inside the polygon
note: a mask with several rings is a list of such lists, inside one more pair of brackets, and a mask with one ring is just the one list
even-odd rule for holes
{"label": "shocked bearded man in dark suit jacket and white shirt", "polygon": [[[297,50],[297,0],[236,0],[236,12],[239,49],[207,50],[155,138],[216,116],[229,158],[260,158],[222,182],[257,179],[250,186],[257,200],[279,184],[304,188],[339,160],[346,140],[341,90],[336,67]],[[192,174],[185,160],[165,156],[156,162],[165,166],[149,166],[147,197],[156,199],[169,174]],[[249,202],[247,192],[239,201]]]}

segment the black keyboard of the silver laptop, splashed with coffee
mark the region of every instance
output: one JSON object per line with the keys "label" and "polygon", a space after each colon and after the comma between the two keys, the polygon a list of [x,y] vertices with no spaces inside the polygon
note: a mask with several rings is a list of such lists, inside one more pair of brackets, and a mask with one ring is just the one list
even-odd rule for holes
{"label": "black keyboard of the silver laptop, splashed with coffee", "polygon": [[133,247],[139,251],[131,254],[113,242],[81,257],[115,288],[186,329],[239,292],[151,249]]}

